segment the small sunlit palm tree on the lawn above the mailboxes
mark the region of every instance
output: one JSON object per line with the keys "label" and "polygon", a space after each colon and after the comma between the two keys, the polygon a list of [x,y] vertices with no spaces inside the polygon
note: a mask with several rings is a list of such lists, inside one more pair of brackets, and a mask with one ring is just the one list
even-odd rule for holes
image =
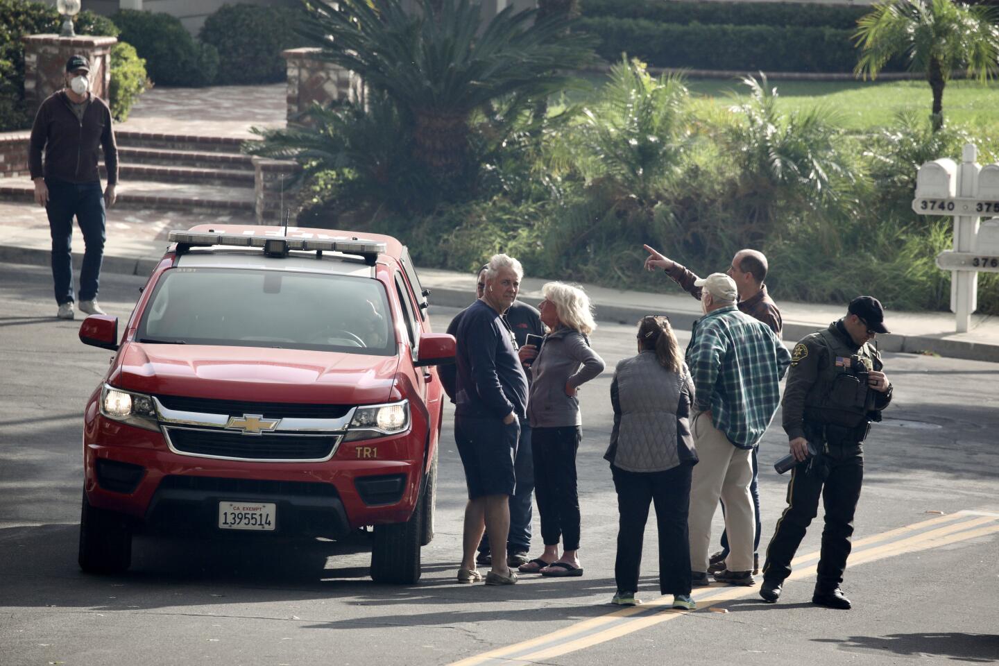
{"label": "small sunlit palm tree on the lawn above the mailboxes", "polygon": [[933,91],[933,129],[943,125],[943,89],[955,69],[965,68],[981,82],[999,68],[997,14],[987,6],[952,0],[889,0],[859,21],[853,38],[861,48],[854,69],[865,79],[877,77],[884,65],[902,56],[914,72],[922,72]]}

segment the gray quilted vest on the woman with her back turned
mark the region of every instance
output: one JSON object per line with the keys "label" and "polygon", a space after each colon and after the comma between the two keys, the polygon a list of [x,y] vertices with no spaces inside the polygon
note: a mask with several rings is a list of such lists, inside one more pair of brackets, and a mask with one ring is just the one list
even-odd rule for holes
{"label": "gray quilted vest on the woman with her back turned", "polygon": [[643,350],[617,363],[610,383],[614,425],[603,456],[625,471],[652,472],[697,462],[690,435],[693,380],[659,364],[655,351]]}

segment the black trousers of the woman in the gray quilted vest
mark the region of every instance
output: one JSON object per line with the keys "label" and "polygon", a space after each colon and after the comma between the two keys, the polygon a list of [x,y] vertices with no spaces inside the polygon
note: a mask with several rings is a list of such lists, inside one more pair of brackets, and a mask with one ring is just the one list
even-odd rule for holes
{"label": "black trousers of the woman in the gray quilted vest", "polygon": [[622,592],[638,590],[642,537],[649,502],[655,504],[659,531],[659,592],[690,594],[690,506],[692,466],[681,464],[665,471],[633,472],[610,465],[617,490],[617,559],[614,579]]}

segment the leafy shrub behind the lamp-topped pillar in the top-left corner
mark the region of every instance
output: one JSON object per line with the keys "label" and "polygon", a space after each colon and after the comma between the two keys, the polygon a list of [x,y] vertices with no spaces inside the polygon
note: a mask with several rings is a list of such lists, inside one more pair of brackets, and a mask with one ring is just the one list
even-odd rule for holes
{"label": "leafy shrub behind the lamp-topped pillar in the top-left corner", "polygon": [[[55,7],[27,0],[0,0],[0,132],[31,125],[24,105],[24,43],[21,37],[58,33],[62,20]],[[118,36],[110,20],[91,11],[74,18],[81,35]],[[113,73],[112,73],[113,75]]]}

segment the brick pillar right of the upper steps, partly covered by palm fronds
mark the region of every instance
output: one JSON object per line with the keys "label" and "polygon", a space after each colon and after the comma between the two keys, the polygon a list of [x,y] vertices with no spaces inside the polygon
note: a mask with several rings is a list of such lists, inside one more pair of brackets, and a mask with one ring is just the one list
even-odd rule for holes
{"label": "brick pillar right of the upper steps, partly covered by palm fronds", "polygon": [[364,103],[365,88],[355,72],[319,58],[321,49],[289,49],[281,55],[288,61],[288,122],[301,124],[301,116],[313,103],[335,100]]}

